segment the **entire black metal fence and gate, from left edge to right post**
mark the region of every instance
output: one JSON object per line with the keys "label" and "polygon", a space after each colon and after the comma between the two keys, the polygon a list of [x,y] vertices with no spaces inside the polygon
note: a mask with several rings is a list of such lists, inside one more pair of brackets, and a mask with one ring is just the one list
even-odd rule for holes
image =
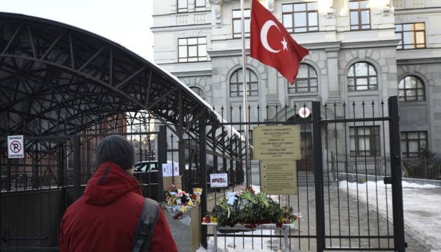
{"label": "entire black metal fence and gate, from left edge to right post", "polygon": [[[307,106],[279,108],[266,106],[255,114],[265,120],[251,122],[207,123],[197,125],[200,139],[188,138],[181,143],[188,149],[186,188],[205,188],[202,214],[232,190],[244,184],[260,186],[260,163],[250,154],[250,165],[228,157],[219,149],[244,150],[243,143],[232,142],[218,148],[214,141],[216,130],[235,127],[244,134],[248,130],[253,144],[253,127],[258,125],[300,125],[302,159],[297,160],[297,195],[272,195],[283,206],[293,207],[301,214],[288,235],[290,251],[405,251],[404,220],[400,166],[400,130],[398,126],[398,97],[388,104],[350,105],[333,102],[321,105],[311,102],[311,116],[299,116]],[[387,108],[387,111],[385,111]],[[251,106],[247,108],[252,111]],[[239,113],[230,107],[230,115]],[[248,113],[249,114],[249,113]],[[223,109],[221,112],[223,117]],[[230,120],[228,120],[230,119]],[[117,123],[125,125],[126,123]],[[56,251],[59,221],[66,206],[78,198],[94,171],[94,147],[100,137],[118,132],[78,134],[64,137],[25,137],[29,155],[25,160],[6,160],[1,156],[1,251]],[[120,132],[135,141],[143,133]],[[167,138],[165,130],[148,132]],[[222,136],[227,136],[221,132]],[[6,139],[0,139],[6,141]],[[137,161],[151,160],[151,148],[136,141]],[[172,141],[173,142],[173,141]],[[167,162],[168,152],[178,152],[158,141],[160,163]],[[3,144],[3,143],[2,143]],[[233,146],[239,144],[239,146]],[[3,144],[4,145],[4,144]],[[56,150],[56,151],[54,151]],[[76,154],[74,154],[76,153]],[[172,155],[173,156],[173,155]],[[210,158],[211,156],[211,158]],[[190,158],[193,157],[193,158]],[[80,167],[80,169],[73,169]],[[228,188],[211,188],[211,173],[227,173]],[[143,183],[141,181],[141,183]],[[147,192],[154,193],[151,182]],[[162,200],[163,193],[156,185],[154,193]],[[155,198],[154,195],[147,195]],[[202,245],[213,239],[212,230],[202,226]],[[279,232],[228,232],[218,234],[218,246],[286,250]]]}

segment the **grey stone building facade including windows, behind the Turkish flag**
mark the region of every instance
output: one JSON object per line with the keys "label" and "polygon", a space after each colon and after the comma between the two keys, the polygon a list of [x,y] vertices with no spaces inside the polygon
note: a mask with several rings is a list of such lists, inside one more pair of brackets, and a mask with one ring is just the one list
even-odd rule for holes
{"label": "grey stone building facade including windows, behind the Turkish flag", "polygon": [[[200,94],[216,111],[225,108],[228,120],[238,121],[239,113],[230,115],[228,108],[244,104],[244,46],[251,108],[269,105],[274,112],[277,105],[286,107],[288,115],[294,116],[294,106],[310,107],[314,101],[377,105],[384,102],[387,111],[388,97],[398,95],[402,157],[418,156],[421,146],[441,154],[440,1],[260,3],[310,52],[301,62],[295,85],[290,85],[272,67],[249,57],[251,0],[153,1],[155,63]],[[381,116],[381,108],[365,106],[364,113]],[[345,116],[342,113],[339,110],[336,116]],[[277,120],[275,114],[268,113],[267,118],[264,109],[251,109],[249,116],[254,121]],[[375,129],[371,130],[364,134],[375,134]],[[356,145],[351,148],[360,151]]]}

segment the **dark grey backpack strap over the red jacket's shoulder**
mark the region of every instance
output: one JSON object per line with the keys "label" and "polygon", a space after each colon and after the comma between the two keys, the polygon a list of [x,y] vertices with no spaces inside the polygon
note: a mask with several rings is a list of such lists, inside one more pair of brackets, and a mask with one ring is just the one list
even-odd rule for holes
{"label": "dark grey backpack strap over the red jacket's shoulder", "polygon": [[160,212],[158,202],[146,198],[133,239],[132,252],[148,251]]}

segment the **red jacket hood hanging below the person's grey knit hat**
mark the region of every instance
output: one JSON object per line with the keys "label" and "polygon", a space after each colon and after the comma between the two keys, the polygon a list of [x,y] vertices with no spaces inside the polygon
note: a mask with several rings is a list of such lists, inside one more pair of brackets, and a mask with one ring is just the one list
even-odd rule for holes
{"label": "red jacket hood hanging below the person's grey knit hat", "polygon": [[130,191],[142,195],[139,181],[120,166],[104,162],[87,182],[84,196],[87,204],[105,205]]}

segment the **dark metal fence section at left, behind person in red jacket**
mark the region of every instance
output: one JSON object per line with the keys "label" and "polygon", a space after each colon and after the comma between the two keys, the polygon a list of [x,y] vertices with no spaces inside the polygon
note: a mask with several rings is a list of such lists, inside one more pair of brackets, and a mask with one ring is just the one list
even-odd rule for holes
{"label": "dark metal fence section at left, behind person in red jacket", "polygon": [[[64,211],[83,194],[85,184],[96,170],[95,147],[107,135],[122,134],[130,139],[135,148],[135,162],[155,158],[167,162],[167,153],[161,152],[165,155],[156,157],[157,151],[149,143],[151,136],[155,136],[162,143],[156,149],[165,148],[163,126],[156,132],[137,132],[133,128],[127,132],[127,127],[134,127],[134,124],[127,125],[124,120],[113,121],[112,128],[101,133],[23,136],[21,148],[26,149],[25,158],[8,158],[8,151],[1,148],[0,251],[59,249],[59,223]],[[0,146],[7,146],[6,143],[7,139],[0,139]],[[139,174],[138,179],[144,195],[158,200],[162,183],[158,183],[158,179],[156,183],[148,181],[151,176],[146,174]]]}

